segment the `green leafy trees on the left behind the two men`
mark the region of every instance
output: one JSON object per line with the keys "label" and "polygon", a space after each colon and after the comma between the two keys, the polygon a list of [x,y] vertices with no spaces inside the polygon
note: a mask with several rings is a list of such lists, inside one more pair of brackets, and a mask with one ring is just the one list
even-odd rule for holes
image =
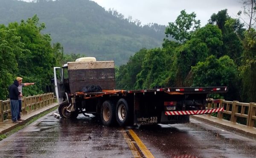
{"label": "green leafy trees on the left behind the two men", "polygon": [[0,25],[1,100],[8,97],[8,87],[17,76],[23,78],[23,83],[36,83],[24,88],[25,96],[46,92],[53,76],[53,66],[60,65],[63,49],[60,43],[51,45],[49,34],[41,34],[45,25],[38,20],[35,15],[20,24]]}

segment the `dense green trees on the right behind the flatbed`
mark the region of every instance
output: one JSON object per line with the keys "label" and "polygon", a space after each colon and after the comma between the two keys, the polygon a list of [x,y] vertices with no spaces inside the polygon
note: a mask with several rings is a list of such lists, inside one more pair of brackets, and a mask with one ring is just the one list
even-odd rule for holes
{"label": "dense green trees on the right behind the flatbed", "polygon": [[[245,11],[253,11],[250,20],[254,23],[255,4],[255,0],[244,1]],[[225,99],[255,102],[256,31],[250,23],[245,29],[244,23],[231,18],[224,9],[212,14],[206,26],[199,27],[195,13],[183,10],[165,32],[166,37],[177,41],[164,39],[163,48],[135,53],[120,66],[117,87],[228,86]]]}

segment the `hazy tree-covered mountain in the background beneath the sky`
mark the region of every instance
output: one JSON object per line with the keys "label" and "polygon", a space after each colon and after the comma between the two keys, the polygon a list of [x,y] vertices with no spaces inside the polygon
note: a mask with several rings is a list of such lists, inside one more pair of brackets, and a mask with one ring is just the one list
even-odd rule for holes
{"label": "hazy tree-covered mountain in the background beneath the sky", "polygon": [[45,23],[43,33],[61,43],[65,53],[115,60],[116,65],[142,48],[160,47],[165,36],[165,26],[141,26],[139,20],[106,11],[90,0],[0,0],[0,24],[20,23],[35,14]]}

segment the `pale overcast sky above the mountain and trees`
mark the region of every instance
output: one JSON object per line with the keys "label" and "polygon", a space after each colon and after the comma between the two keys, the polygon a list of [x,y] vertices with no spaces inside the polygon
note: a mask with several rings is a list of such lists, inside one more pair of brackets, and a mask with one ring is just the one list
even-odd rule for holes
{"label": "pale overcast sky above the mountain and trees", "polygon": [[[32,1],[32,0],[23,0]],[[196,20],[201,20],[204,26],[213,13],[227,9],[230,17],[238,18],[239,10],[243,11],[242,0],[92,0],[106,10],[115,9],[125,17],[140,20],[142,25],[158,23],[168,25],[175,22],[180,11],[185,9],[190,14],[196,14]]]}

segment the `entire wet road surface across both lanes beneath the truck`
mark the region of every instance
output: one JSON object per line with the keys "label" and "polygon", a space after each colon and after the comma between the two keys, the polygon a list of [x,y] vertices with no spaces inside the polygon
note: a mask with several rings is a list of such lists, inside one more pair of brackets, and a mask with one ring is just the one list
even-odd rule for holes
{"label": "entire wet road surface across both lanes beneath the truck", "polygon": [[121,128],[102,126],[97,119],[83,115],[69,120],[55,118],[52,113],[0,141],[0,157],[132,158],[137,155],[129,141],[136,142],[125,137],[128,129],[156,158],[256,157],[255,140],[192,119],[189,124]]}

